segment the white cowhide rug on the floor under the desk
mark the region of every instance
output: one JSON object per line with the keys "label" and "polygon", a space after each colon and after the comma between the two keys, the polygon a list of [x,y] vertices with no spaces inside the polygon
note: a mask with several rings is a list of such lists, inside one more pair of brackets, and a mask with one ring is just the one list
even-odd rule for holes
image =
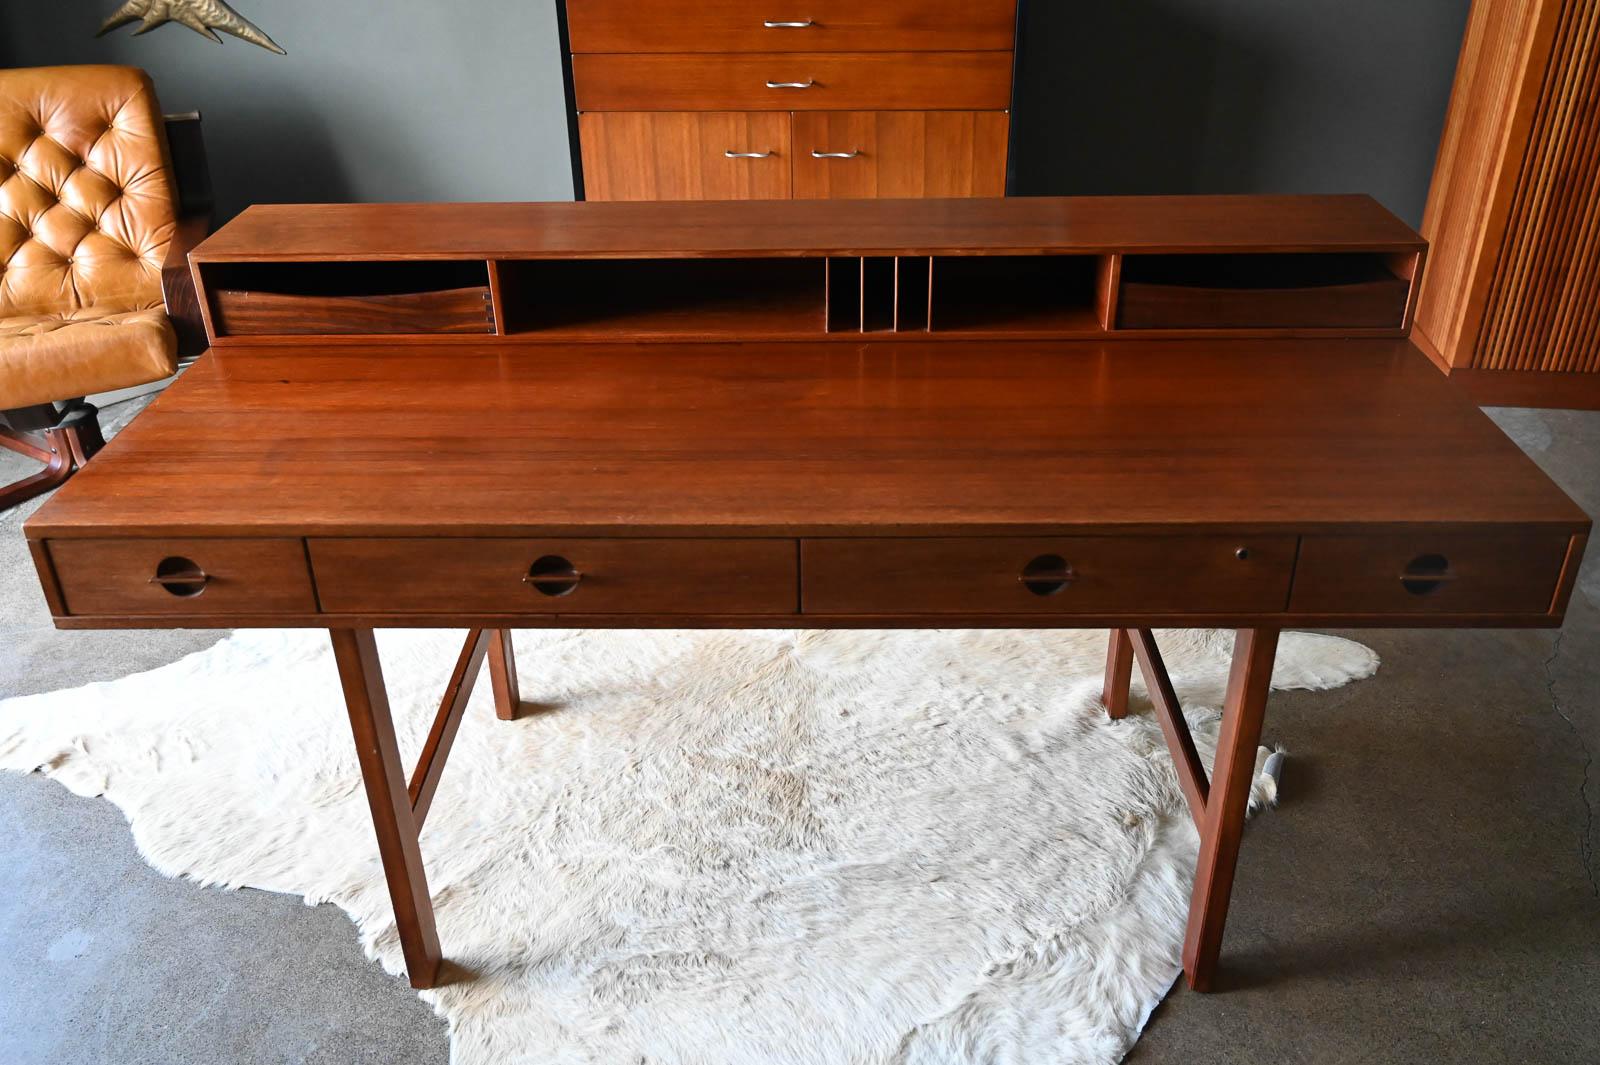
{"label": "white cowhide rug on the floor under the desk", "polygon": [[[379,635],[408,760],[461,638]],[[1210,760],[1232,633],[1162,644]],[[498,721],[480,678],[422,835],[472,974],[424,993],[453,1060],[1118,1060],[1178,974],[1197,836],[1149,710],[1099,707],[1104,651],[1102,632],[518,632],[544,710]],[[1274,686],[1376,668],[1285,635]],[[117,803],[170,876],[338,903],[400,971],[325,633],[240,632],[0,702],[0,768]]]}

